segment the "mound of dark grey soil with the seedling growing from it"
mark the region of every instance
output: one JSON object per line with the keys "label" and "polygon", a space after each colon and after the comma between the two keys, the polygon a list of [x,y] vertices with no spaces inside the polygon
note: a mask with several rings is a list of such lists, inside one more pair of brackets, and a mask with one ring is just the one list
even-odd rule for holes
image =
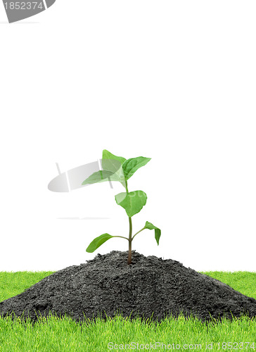
{"label": "mound of dark grey soil with the seedling growing from it", "polygon": [[[0,303],[0,315],[15,313],[32,322],[49,311],[65,313],[77,322],[84,317],[123,317],[162,320],[183,313],[207,321],[248,315],[256,317],[256,300],[228,285],[185,268],[176,260],[112,251],[81,265],[73,265],[45,277],[22,294]],[[22,316],[23,315],[23,316]],[[212,318],[211,318],[212,317]]]}

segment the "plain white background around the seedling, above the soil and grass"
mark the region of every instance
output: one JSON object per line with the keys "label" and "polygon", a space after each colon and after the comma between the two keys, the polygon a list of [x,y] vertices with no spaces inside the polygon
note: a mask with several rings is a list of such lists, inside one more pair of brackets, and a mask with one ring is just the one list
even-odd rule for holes
{"label": "plain white background around the seedling, above the soil and grass", "polygon": [[[146,156],[133,249],[195,270],[256,271],[255,1],[68,1],[8,24],[0,4],[0,271],[127,251],[115,182],[47,189],[101,158]],[[63,217],[108,218],[60,220]]]}

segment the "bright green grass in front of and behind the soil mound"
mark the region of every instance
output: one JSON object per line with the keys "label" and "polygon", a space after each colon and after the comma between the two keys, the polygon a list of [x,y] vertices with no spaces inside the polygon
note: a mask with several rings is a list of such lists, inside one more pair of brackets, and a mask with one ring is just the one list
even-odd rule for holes
{"label": "bright green grass in front of and behind the soil mound", "polygon": [[[53,272],[0,272],[0,301],[20,294],[28,287],[39,282]],[[256,299],[256,272],[203,272],[215,277],[246,296]],[[108,348],[108,343],[122,345],[121,348]],[[132,343],[134,342],[134,345]],[[96,322],[86,320],[77,324],[66,316],[63,319],[51,315],[49,319],[40,318],[32,325],[19,318],[0,318],[0,351],[165,351],[165,346],[156,347],[155,343],[169,345],[166,351],[173,349],[196,349],[208,351],[205,344],[212,343],[212,351],[256,350],[256,318],[243,317],[230,322],[203,323],[182,315],[177,319],[165,319],[162,322],[141,322],[139,318],[129,320],[117,315],[105,322],[98,318]],[[229,346],[224,343],[230,343]],[[246,344],[250,342],[250,344]],[[252,343],[254,342],[254,348]],[[219,345],[218,345],[219,343]],[[243,343],[243,346],[237,343]],[[127,344],[125,349],[125,344]],[[139,346],[137,346],[139,344]],[[152,345],[151,345],[152,344]],[[174,346],[172,345],[174,344]],[[178,345],[179,346],[175,346]],[[222,344],[224,344],[222,346]],[[128,346],[129,345],[129,346]],[[141,348],[140,348],[140,345]],[[171,345],[171,346],[170,346]],[[195,346],[198,345],[198,346]],[[122,347],[120,346],[120,347]],[[153,348],[153,347],[154,348]],[[201,348],[200,348],[201,346]],[[226,348],[225,348],[226,346]],[[116,346],[117,347],[117,346]],[[130,348],[128,348],[130,347]],[[133,347],[133,348],[132,348]],[[152,347],[152,348],[151,348]],[[156,347],[156,348],[155,348]],[[242,348],[243,347],[243,348]]]}

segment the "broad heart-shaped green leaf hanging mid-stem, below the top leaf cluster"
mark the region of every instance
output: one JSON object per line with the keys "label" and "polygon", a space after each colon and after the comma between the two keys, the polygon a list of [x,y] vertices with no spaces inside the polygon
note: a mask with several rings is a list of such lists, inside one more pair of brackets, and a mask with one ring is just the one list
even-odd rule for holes
{"label": "broad heart-shaped green leaf hanging mid-stem, below the top leaf cluster", "polygon": [[145,206],[147,195],[143,191],[122,192],[115,196],[115,201],[124,208],[129,218],[132,218]]}

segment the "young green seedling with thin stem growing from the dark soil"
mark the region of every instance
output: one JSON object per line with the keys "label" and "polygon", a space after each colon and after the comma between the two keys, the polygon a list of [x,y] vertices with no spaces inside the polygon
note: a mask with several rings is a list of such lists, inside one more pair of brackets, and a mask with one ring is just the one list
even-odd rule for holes
{"label": "young green seedling with thin stem growing from the dark soil", "polygon": [[94,172],[91,176],[84,180],[83,184],[93,184],[97,182],[104,181],[118,181],[125,188],[125,192],[119,193],[115,196],[115,201],[119,206],[122,206],[126,211],[129,218],[129,237],[123,236],[112,236],[110,234],[101,234],[101,236],[96,237],[89,246],[87,247],[87,252],[94,252],[101,244],[108,241],[113,237],[121,237],[123,239],[127,239],[129,241],[129,251],[128,251],[128,264],[132,263],[132,241],[136,234],[143,230],[155,230],[155,240],[159,245],[159,239],[161,236],[161,230],[158,227],[155,227],[151,222],[146,221],[146,225],[136,232],[134,236],[132,236],[132,216],[139,213],[143,206],[145,206],[147,201],[146,193],[143,191],[128,191],[127,180],[129,180],[134,172],[146,165],[151,158],[144,158],[143,156],[139,156],[137,158],[125,159],[122,156],[115,156],[110,153],[110,151],[103,150],[102,156],[102,168],[103,170]]}

